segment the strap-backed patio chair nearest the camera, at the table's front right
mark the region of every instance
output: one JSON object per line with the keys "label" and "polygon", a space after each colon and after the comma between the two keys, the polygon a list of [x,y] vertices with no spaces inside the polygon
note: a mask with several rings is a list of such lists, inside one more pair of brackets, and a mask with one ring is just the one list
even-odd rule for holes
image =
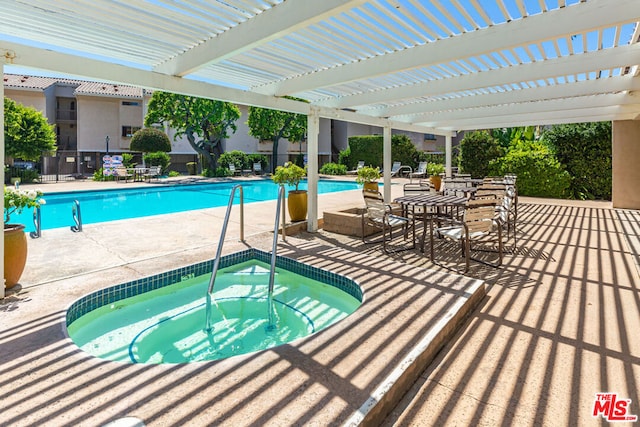
{"label": "strap-backed patio chair nearest the camera, at the table's front right", "polygon": [[[502,265],[502,226],[498,224],[496,226],[496,207],[495,200],[469,200],[461,220],[457,220],[451,217],[438,218],[442,226],[436,228],[433,227],[436,220],[432,216],[430,228],[431,234],[431,260],[435,263],[435,251],[434,240],[436,237],[450,240],[456,243],[460,243],[462,249],[462,256],[465,259],[465,268],[461,273],[464,274],[469,271],[470,260],[478,261],[484,264],[488,264],[492,267],[499,267]],[[489,264],[485,261],[471,258],[471,242],[483,240],[497,234],[498,241],[498,261],[495,264]]]}

